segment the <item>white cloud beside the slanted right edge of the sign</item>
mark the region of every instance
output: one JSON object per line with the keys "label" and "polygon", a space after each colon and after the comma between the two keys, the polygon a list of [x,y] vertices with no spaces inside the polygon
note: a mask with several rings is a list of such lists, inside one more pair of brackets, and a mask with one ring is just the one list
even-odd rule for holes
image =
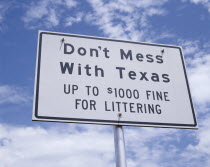
{"label": "white cloud beside the slanted right edge of the sign", "polygon": [[209,44],[200,44],[199,41],[179,39],[183,48],[191,93],[199,112],[208,112],[206,107],[210,104],[210,54]]}

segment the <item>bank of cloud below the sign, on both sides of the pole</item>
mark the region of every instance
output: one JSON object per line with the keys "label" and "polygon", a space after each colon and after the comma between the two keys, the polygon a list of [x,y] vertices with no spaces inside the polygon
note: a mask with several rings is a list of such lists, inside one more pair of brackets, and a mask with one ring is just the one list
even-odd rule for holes
{"label": "bank of cloud below the sign, on both sides of the pole", "polygon": [[[207,167],[210,165],[205,159],[210,155],[208,122],[205,119],[198,132],[125,128],[128,166],[193,167],[199,162]],[[45,129],[0,124],[0,166],[67,167],[69,164],[115,166],[112,127],[60,124]]]}

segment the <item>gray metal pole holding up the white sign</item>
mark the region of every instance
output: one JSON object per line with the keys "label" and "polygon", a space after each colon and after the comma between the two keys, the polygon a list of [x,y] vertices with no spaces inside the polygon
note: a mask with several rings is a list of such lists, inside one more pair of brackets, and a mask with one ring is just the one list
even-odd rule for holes
{"label": "gray metal pole holding up the white sign", "polygon": [[122,126],[114,126],[114,145],[116,167],[127,167],[125,156],[125,141]]}

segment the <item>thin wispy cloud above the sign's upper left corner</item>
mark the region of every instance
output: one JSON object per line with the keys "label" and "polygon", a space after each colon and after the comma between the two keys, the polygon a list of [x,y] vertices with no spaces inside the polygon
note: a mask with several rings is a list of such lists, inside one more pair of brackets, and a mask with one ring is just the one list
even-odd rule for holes
{"label": "thin wispy cloud above the sign's upper left corner", "polygon": [[32,2],[23,16],[23,21],[29,28],[58,26],[64,9],[76,7],[74,0],[39,0]]}

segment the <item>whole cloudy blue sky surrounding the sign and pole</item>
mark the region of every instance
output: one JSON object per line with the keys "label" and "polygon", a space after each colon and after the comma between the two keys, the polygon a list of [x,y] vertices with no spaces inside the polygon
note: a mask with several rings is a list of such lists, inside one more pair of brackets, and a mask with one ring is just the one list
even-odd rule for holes
{"label": "whole cloudy blue sky surrounding the sign and pole", "polygon": [[38,30],[182,46],[199,130],[125,127],[130,167],[210,166],[209,0],[0,0],[0,166],[115,166],[113,127],[32,122]]}

